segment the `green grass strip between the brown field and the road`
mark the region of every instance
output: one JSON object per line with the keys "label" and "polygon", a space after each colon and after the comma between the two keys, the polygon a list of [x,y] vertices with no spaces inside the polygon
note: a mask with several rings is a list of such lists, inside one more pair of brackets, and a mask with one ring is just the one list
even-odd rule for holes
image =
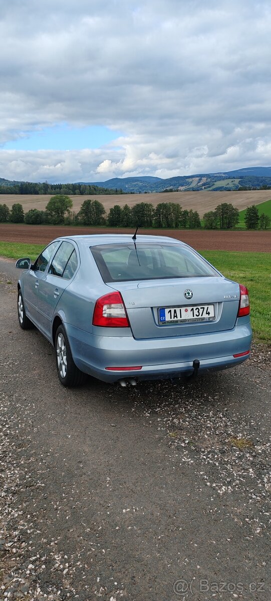
{"label": "green grass strip between the brown field and the road", "polygon": [[[17,259],[30,257],[34,260],[44,245],[0,242],[0,256]],[[251,299],[251,322],[256,341],[271,342],[271,273],[268,252],[202,251],[227,278],[249,289]]]}

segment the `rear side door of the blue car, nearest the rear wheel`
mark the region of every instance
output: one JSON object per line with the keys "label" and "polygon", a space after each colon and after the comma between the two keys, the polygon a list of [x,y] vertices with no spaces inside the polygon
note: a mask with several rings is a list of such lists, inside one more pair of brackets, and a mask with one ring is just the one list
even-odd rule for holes
{"label": "rear side door of the blue car, nearest the rear wheel", "polygon": [[77,266],[78,258],[75,246],[72,242],[63,240],[38,285],[38,320],[40,329],[47,338],[50,338],[51,335],[56,305],[69,285]]}

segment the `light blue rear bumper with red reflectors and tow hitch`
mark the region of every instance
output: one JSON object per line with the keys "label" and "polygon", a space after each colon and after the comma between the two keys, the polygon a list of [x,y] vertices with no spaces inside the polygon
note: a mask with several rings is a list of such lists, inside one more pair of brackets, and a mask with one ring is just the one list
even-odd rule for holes
{"label": "light blue rear bumper with red reflectors and tow hitch", "polygon": [[[122,378],[137,380],[181,377],[193,371],[199,359],[199,372],[223,370],[248,359],[233,355],[249,350],[252,331],[249,317],[237,320],[229,331],[180,338],[135,340],[133,336],[96,336],[65,323],[73,360],[77,367],[104,382]],[[106,367],[141,365],[141,370],[109,371]]]}

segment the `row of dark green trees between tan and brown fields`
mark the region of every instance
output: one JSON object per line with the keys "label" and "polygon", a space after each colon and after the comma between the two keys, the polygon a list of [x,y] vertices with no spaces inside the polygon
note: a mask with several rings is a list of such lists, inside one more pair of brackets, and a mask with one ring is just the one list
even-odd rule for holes
{"label": "row of dark green trees between tan and brown fields", "polygon": [[[78,213],[72,211],[72,206],[72,198],[63,194],[50,198],[44,211],[30,209],[24,213],[20,203],[14,203],[11,210],[0,204],[0,222],[207,230],[232,230],[239,223],[239,211],[230,203],[219,204],[214,211],[204,213],[202,222],[197,211],[183,209],[178,203],[159,203],[156,207],[151,203],[137,203],[133,207],[115,204],[108,215],[99,200],[85,200]],[[246,228],[264,230],[270,227],[270,221],[268,215],[259,215],[255,205],[246,209]]]}

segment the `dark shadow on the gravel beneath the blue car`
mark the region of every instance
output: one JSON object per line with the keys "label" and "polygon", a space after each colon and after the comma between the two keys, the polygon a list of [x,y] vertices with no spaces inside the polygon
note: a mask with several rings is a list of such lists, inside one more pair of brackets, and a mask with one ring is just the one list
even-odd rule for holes
{"label": "dark shadow on the gravel beneath the blue car", "polygon": [[[25,333],[23,333],[25,335]],[[87,376],[84,385],[78,388],[65,389],[58,381],[55,367],[55,351],[52,345],[46,341],[43,335],[34,328],[27,333],[32,338],[31,344],[38,355],[46,355],[50,362],[49,372],[52,379],[58,384],[61,391],[69,390],[70,395],[76,400],[85,403],[86,398],[89,402],[94,396],[99,397],[99,401],[105,404],[114,404],[115,407],[132,407],[133,405],[142,407],[142,410],[153,411],[157,406],[163,404],[174,408],[177,404],[184,407],[202,406],[205,409],[218,409],[227,406],[240,410],[243,404],[243,393],[249,388],[248,380],[254,379],[253,356],[257,349],[252,352],[252,359],[248,359],[244,364],[233,367],[229,370],[213,371],[199,374],[195,379],[182,377],[180,379],[148,380],[138,382],[136,386],[128,384],[122,387],[120,383],[105,383],[91,376]],[[257,365],[258,367],[258,365]],[[249,397],[251,395],[249,394]],[[248,409],[249,397],[246,397],[246,410]]]}

